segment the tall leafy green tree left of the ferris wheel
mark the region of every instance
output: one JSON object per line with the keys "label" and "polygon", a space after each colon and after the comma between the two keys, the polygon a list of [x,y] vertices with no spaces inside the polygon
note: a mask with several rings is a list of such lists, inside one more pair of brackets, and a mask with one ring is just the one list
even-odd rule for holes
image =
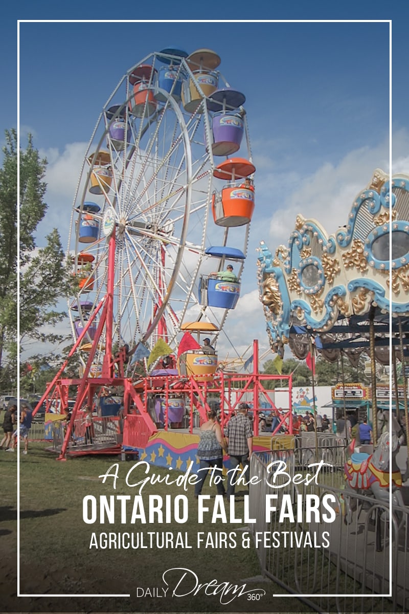
{"label": "tall leafy green tree left of the ferris wheel", "polygon": [[[0,171],[0,375],[17,377],[17,133],[6,131]],[[58,231],[52,230],[37,249],[34,233],[47,211],[44,182],[47,160],[41,159],[28,135],[20,148],[20,342],[60,341],[53,327],[64,313],[54,309],[72,286],[71,261],[64,256]],[[48,327],[48,330],[47,328]],[[4,351],[7,359],[4,360]],[[11,374],[11,375],[10,375]]]}

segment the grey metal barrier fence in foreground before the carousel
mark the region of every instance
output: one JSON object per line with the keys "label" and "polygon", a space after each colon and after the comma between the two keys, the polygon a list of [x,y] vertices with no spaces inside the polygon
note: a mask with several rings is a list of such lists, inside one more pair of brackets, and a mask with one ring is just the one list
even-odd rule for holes
{"label": "grey metal barrier fence in foreground before the carousel", "polygon": [[[297,451],[251,456],[251,475],[259,478],[257,484],[250,484],[250,515],[256,518],[251,531],[263,575],[299,595],[318,612],[408,612],[409,508],[393,506],[391,514],[387,504],[348,491],[351,507],[357,509],[352,521],[345,524],[345,491],[331,485],[334,472],[323,470],[319,481],[317,476],[308,486],[294,484],[285,475],[274,481],[277,464],[267,469],[273,461],[285,461],[288,476],[299,471]],[[305,477],[305,469],[301,468],[300,475]],[[277,488],[280,481],[285,485]],[[271,494],[277,495],[273,503],[266,499]],[[319,497],[318,511],[312,512],[310,519],[307,495]],[[324,516],[329,513],[329,495],[331,522]],[[287,513],[280,518],[282,504]],[[272,505],[277,511],[270,511]]]}

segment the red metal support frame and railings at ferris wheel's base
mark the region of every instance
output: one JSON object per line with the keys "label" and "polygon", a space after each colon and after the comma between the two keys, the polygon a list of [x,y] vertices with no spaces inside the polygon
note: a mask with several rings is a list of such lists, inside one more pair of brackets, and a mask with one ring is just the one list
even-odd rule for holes
{"label": "red metal support frame and railings at ferris wheel's base", "polygon": [[[164,257],[164,254],[162,254]],[[113,331],[113,281],[114,281],[114,266],[115,266],[115,231],[113,231],[109,241],[109,264],[108,264],[108,279],[107,279],[107,293],[102,301],[97,305],[96,309],[90,315],[88,322],[86,323],[82,333],[78,336],[74,346],[69,352],[67,360],[63,363],[59,369],[57,375],[53,381],[48,385],[47,390],[37,403],[34,409],[34,414],[39,410],[40,405],[45,399],[59,398],[60,411],[66,406],[68,399],[68,387],[77,386],[77,399],[75,401],[74,408],[72,409],[71,421],[67,425],[66,435],[64,437],[63,445],[61,446],[61,453],[58,460],[66,460],[67,447],[71,440],[72,428],[78,411],[82,408],[83,404],[93,404],[93,397],[95,392],[101,389],[102,386],[123,387],[124,394],[124,414],[126,418],[129,418],[128,426],[126,427],[126,445],[140,448],[144,443],[146,445],[148,438],[157,432],[155,422],[153,422],[150,413],[148,411],[148,400],[150,395],[163,395],[165,399],[165,424],[164,429],[168,428],[168,401],[169,394],[177,393],[178,395],[184,395],[185,401],[188,400],[190,405],[189,416],[189,433],[193,433],[193,412],[194,409],[199,411],[199,415],[202,421],[206,419],[206,411],[210,409],[208,405],[209,395],[218,395],[221,405],[221,427],[224,429],[226,422],[231,418],[234,411],[240,402],[245,401],[253,404],[253,429],[254,435],[259,434],[259,411],[263,411],[259,406],[259,398],[264,395],[266,399],[270,400],[268,391],[263,385],[263,381],[271,380],[288,380],[289,400],[288,411],[281,417],[281,423],[287,421],[289,434],[292,435],[292,376],[291,375],[264,375],[258,372],[258,341],[253,342],[253,373],[237,374],[237,373],[216,373],[214,376],[210,376],[207,380],[203,379],[203,376],[196,379],[195,376],[145,376],[145,378],[139,379],[134,383],[129,378],[124,378],[124,359],[125,352],[120,351],[117,357],[112,356],[112,331]],[[160,275],[160,274],[159,274]],[[161,286],[162,280],[159,279],[159,286]],[[160,305],[156,306],[160,308]],[[82,378],[79,379],[64,379],[63,372],[67,366],[69,358],[74,354],[75,350],[80,345],[88,328],[95,319],[97,313],[101,311],[101,317],[97,325],[96,334],[91,345],[90,354],[86,361],[85,369]],[[105,354],[102,362],[102,373],[99,378],[90,378],[90,369],[94,360],[96,349],[100,343],[102,332],[105,327]],[[167,336],[166,322],[164,319],[159,321],[158,331],[161,336]],[[199,381],[200,380],[200,381]],[[272,404],[272,410],[275,410],[275,406]],[[48,403],[47,408],[49,407]],[[133,408],[131,410],[131,405]],[[265,410],[264,410],[265,411]],[[125,421],[126,422],[126,421]],[[143,428],[142,428],[143,424]],[[139,426],[138,426],[139,425]],[[277,429],[276,429],[277,430]],[[274,434],[274,433],[273,433]],[[109,446],[110,449],[112,446]],[[118,444],[118,448],[120,445]],[[102,452],[101,449],[98,450]],[[87,453],[93,453],[93,450],[87,451]]]}

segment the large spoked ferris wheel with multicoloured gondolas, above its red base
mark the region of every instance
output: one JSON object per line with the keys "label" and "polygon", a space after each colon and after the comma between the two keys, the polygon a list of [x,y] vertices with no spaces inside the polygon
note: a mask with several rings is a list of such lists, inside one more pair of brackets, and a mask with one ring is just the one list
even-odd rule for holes
{"label": "large spoked ferris wheel with multicoloured gondolas, above its red base", "polygon": [[[107,336],[113,348],[139,341],[152,347],[159,338],[175,347],[183,322],[201,321],[212,323],[216,339],[232,307],[212,305],[200,288],[202,276],[221,270],[226,258],[240,276],[251,217],[220,212],[217,204],[226,185],[254,172],[245,96],[216,70],[220,61],[208,49],[152,53],[124,74],[99,115],[69,234],[78,281],[69,298],[75,339],[112,295],[94,376]],[[240,158],[229,158],[239,149]],[[245,198],[254,201],[251,193]],[[97,326],[98,316],[80,349],[89,348]]]}

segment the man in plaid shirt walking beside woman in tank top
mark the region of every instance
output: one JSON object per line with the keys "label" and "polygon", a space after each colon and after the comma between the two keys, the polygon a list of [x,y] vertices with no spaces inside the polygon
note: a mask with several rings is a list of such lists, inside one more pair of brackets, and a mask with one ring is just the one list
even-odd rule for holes
{"label": "man in plaid shirt walking beside woman in tank top", "polygon": [[[226,427],[226,441],[230,456],[230,468],[234,469],[238,465],[243,465],[246,469],[253,452],[253,430],[251,422],[247,418],[249,407],[247,403],[239,403],[239,413],[233,416]],[[248,471],[248,470],[247,470]],[[239,478],[237,472],[229,473],[229,484],[227,485],[227,496],[234,495],[235,482]],[[247,474],[247,480],[250,476]]]}

